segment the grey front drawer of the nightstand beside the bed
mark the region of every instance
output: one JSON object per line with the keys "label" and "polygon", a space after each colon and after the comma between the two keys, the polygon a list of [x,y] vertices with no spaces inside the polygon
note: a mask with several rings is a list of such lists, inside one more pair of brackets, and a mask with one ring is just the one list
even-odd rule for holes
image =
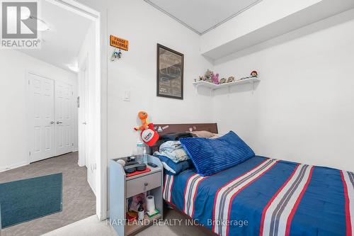
{"label": "grey front drawer of the nightstand beside the bed", "polygon": [[127,181],[127,198],[161,186],[161,172]]}

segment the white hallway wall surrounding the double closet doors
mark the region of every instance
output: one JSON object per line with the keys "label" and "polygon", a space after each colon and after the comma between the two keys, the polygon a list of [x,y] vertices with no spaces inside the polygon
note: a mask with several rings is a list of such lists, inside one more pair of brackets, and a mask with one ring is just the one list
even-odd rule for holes
{"label": "white hallway wall surrounding the double closet doors", "polygon": [[[1,94],[1,132],[0,132],[0,171],[29,164],[26,140],[26,71],[38,73],[50,79],[73,84],[76,103],[76,74],[55,67],[18,52],[1,50],[0,52],[0,94]],[[74,105],[74,104],[73,104]],[[77,114],[74,116],[77,130]],[[77,132],[74,147],[77,149]]]}

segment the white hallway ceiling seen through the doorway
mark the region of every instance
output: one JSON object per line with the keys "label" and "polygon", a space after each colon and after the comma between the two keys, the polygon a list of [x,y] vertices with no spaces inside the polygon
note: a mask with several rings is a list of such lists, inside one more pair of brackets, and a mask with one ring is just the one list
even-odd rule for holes
{"label": "white hallway ceiling seen through the doorway", "polygon": [[41,48],[20,51],[69,70],[68,65],[77,63],[81,44],[92,21],[48,1],[40,2],[39,18],[45,21],[50,28],[50,30],[42,31]]}

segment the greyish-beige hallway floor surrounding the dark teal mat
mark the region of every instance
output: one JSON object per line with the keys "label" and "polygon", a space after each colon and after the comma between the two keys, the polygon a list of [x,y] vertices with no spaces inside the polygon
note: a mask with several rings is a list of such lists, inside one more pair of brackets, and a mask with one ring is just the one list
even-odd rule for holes
{"label": "greyish-beige hallway floor surrounding the dark teal mat", "polygon": [[96,196],[86,180],[86,167],[77,164],[78,153],[45,159],[0,173],[0,183],[63,173],[62,212],[6,227],[1,236],[38,236],[96,214]]}

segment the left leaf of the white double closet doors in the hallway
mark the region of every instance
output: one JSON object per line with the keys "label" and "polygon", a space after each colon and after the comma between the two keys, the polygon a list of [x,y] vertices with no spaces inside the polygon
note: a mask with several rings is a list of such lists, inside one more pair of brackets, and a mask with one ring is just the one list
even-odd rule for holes
{"label": "left leaf of the white double closet doors in the hallway", "polygon": [[28,74],[30,162],[55,155],[54,81]]}

